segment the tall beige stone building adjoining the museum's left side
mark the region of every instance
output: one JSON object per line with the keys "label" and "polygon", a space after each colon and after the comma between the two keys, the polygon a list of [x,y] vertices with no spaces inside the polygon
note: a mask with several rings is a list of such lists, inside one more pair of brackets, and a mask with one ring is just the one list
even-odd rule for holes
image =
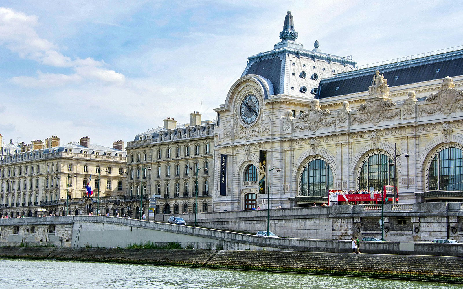
{"label": "tall beige stone building adjoining the museum's left side", "polygon": [[198,212],[212,211],[214,127],[194,112],[190,123],[167,118],[163,127],[136,135],[126,148],[128,195],[140,199],[141,187],[144,196],[160,196],[156,214],[193,213],[196,199]]}

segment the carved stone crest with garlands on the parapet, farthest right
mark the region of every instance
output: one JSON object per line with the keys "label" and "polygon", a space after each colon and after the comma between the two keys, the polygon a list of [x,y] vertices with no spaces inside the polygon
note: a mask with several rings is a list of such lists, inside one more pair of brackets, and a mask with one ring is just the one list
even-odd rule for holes
{"label": "carved stone crest with garlands on the parapet, farthest right", "polygon": [[463,90],[455,89],[453,79],[449,76],[442,80],[441,89],[437,93],[431,93],[425,101],[432,105],[430,107],[422,107],[419,109],[419,116],[423,113],[426,115],[442,113],[449,116],[450,113],[457,110],[463,110]]}

